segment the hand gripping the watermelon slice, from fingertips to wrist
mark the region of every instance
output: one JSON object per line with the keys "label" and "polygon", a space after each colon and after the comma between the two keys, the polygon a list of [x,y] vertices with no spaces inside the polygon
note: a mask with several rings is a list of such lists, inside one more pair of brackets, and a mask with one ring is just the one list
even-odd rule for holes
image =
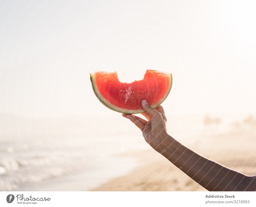
{"label": "hand gripping the watermelon slice, from fingertips to wrist", "polygon": [[132,121],[142,131],[146,142],[156,149],[168,137],[164,108],[160,105],[154,109],[146,100],[143,100],[141,103],[142,108],[146,111],[142,115],[148,121],[132,114],[122,115]]}

